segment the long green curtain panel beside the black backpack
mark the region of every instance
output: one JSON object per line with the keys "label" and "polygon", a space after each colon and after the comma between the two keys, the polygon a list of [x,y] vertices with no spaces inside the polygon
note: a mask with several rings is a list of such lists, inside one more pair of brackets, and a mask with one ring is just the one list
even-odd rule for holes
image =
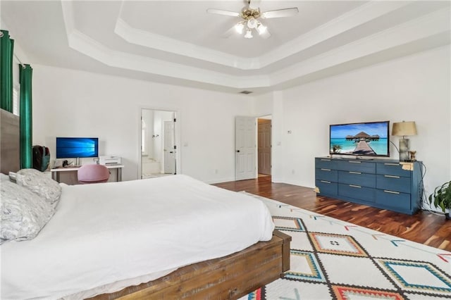
{"label": "long green curtain panel beside the black backpack", "polygon": [[32,168],[32,75],[30,65],[19,65],[20,75],[20,168]]}

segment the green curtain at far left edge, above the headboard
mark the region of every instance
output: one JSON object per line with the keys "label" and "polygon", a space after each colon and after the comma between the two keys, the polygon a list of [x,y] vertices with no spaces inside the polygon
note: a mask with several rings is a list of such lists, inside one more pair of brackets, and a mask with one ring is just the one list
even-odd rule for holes
{"label": "green curtain at far left edge, above the headboard", "polygon": [[7,30],[0,31],[0,107],[13,111],[14,40]]}

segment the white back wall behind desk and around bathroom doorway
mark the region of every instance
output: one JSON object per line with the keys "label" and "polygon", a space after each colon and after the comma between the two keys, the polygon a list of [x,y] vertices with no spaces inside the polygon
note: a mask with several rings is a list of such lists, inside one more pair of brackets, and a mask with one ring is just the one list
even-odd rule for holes
{"label": "white back wall behind desk and around bathroom doorway", "polygon": [[[32,65],[33,144],[55,137],[99,137],[100,154],[123,157],[123,180],[138,178],[141,108],[177,112],[178,168],[205,182],[235,178],[235,115],[252,112],[248,96]],[[218,173],[215,173],[218,170]]]}

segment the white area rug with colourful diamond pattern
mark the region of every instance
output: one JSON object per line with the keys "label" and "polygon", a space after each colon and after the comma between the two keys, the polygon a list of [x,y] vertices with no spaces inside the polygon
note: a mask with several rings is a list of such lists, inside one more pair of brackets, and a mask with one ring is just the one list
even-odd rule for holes
{"label": "white area rug with colourful diamond pattern", "polygon": [[249,195],[292,236],[291,262],[283,278],[240,300],[451,299],[451,252]]}

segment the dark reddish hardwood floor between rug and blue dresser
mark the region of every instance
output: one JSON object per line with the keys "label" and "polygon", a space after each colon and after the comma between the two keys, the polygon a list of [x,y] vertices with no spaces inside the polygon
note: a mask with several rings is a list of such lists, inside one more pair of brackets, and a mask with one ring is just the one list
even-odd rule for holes
{"label": "dark reddish hardwood floor between rug and blue dresser", "polygon": [[316,196],[313,189],[273,183],[271,177],[216,184],[217,187],[235,192],[246,191],[278,200],[322,215],[347,221],[356,225],[395,235],[402,239],[451,251],[451,220],[443,215],[419,211],[415,215],[395,213],[370,206],[354,204],[324,196]]}

